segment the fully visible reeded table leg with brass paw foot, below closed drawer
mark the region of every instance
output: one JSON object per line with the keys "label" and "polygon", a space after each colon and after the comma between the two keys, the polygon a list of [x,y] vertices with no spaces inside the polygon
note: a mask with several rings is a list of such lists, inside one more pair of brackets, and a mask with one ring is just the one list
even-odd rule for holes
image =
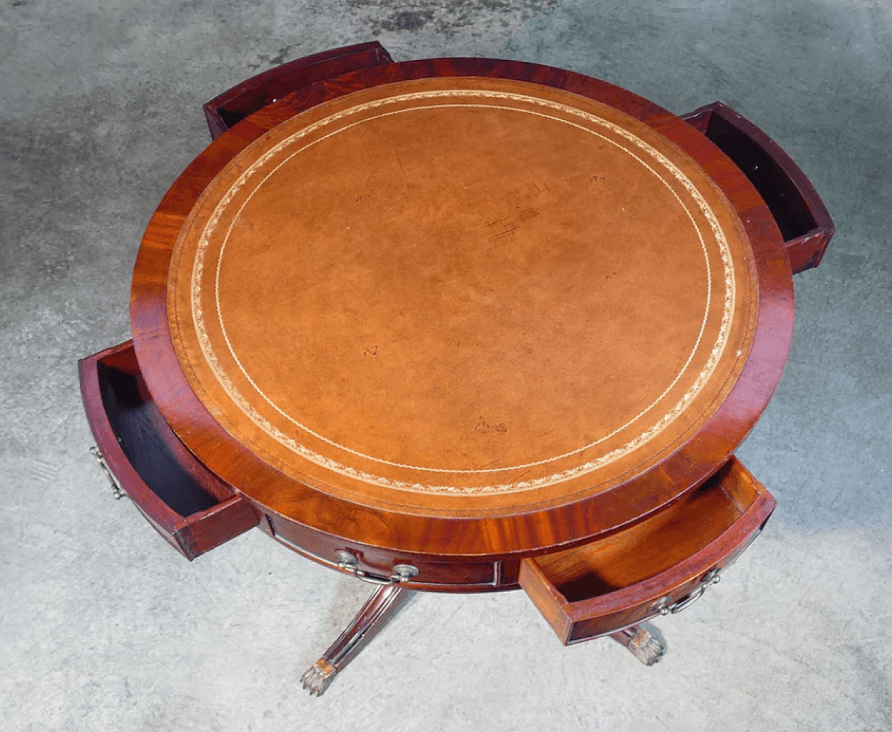
{"label": "fully visible reeded table leg with brass paw foot, below closed drawer", "polygon": [[310,695],[325,694],[338,671],[342,671],[368,641],[384,628],[387,620],[409,599],[409,595],[411,590],[399,585],[378,587],[335,643],[301,677],[303,688],[309,689]]}

